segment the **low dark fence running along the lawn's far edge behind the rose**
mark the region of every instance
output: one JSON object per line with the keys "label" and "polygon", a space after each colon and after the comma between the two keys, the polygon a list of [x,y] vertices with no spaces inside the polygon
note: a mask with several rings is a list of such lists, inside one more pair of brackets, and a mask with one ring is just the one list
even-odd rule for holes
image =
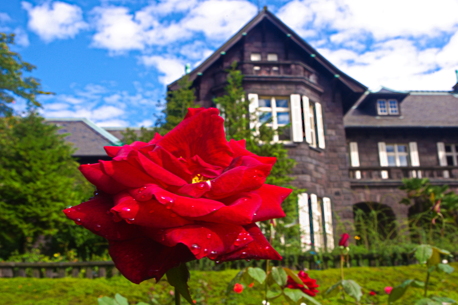
{"label": "low dark fence running along the lawn's far edge behind the rose", "polygon": [[[453,257],[444,257],[449,262],[458,262],[458,253]],[[273,265],[282,265],[293,270],[340,268],[340,256],[304,255],[284,256],[282,261],[271,261]],[[412,253],[395,253],[389,256],[378,254],[353,254],[348,257],[345,265],[360,266],[401,266],[417,264]],[[196,260],[188,263],[191,270],[222,270],[242,269],[248,266],[265,268],[265,261],[245,260],[216,264],[210,260]],[[112,261],[102,262],[0,262],[0,277],[34,277],[34,278],[103,278],[119,275]]]}

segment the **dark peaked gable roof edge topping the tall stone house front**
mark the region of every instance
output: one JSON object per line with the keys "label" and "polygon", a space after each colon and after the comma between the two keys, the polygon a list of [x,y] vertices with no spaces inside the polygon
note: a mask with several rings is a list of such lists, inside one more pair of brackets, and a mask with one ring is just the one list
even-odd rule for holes
{"label": "dark peaked gable roof edge topping the tall stone house front", "polygon": [[[327,59],[325,59],[321,54],[319,54],[314,48],[312,48],[308,43],[306,43],[299,35],[297,35],[293,30],[286,26],[282,21],[280,21],[275,15],[270,11],[267,11],[267,8],[264,7],[264,10],[261,11],[257,16],[255,16],[251,21],[249,21],[244,27],[240,29],[234,36],[232,36],[226,43],[224,43],[218,50],[216,50],[209,58],[207,58],[202,64],[197,68],[192,70],[189,75],[189,80],[195,80],[197,75],[203,73],[207,68],[209,68],[214,62],[216,62],[220,57],[221,53],[225,54],[235,43],[239,42],[244,33],[249,32],[251,29],[256,27],[264,18],[267,18],[271,21],[280,31],[284,32],[285,35],[288,35],[291,40],[297,43],[305,52],[309,54],[316,54],[316,61],[321,64],[326,70],[331,74],[336,75],[338,79],[347,86],[351,91],[363,93],[367,90],[367,87],[362,85],[360,82],[354,80],[344,72],[338,70],[333,64],[331,64]],[[181,79],[181,78],[180,78]],[[178,80],[180,80],[178,79]],[[168,87],[173,86],[178,82],[175,80]]]}

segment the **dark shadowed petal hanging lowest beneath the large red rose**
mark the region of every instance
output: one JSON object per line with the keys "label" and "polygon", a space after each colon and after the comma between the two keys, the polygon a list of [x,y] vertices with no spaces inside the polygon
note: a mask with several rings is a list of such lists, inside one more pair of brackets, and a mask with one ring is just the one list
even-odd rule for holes
{"label": "dark shadowed petal hanging lowest beneath the large red rose", "polygon": [[168,247],[147,237],[110,241],[109,254],[120,273],[135,284],[149,278],[158,282],[170,268],[195,259],[182,244]]}

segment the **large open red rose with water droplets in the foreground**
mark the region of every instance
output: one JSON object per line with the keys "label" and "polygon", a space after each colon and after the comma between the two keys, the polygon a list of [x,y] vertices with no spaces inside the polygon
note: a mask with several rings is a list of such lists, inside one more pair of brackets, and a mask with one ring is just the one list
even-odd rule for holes
{"label": "large open red rose with water droplets in the foreground", "polygon": [[80,166],[98,191],[64,212],[109,241],[116,268],[140,283],[194,259],[281,259],[255,224],[284,217],[290,189],[264,184],[276,158],[225,139],[215,108],[148,143],[106,146],[112,161]]}

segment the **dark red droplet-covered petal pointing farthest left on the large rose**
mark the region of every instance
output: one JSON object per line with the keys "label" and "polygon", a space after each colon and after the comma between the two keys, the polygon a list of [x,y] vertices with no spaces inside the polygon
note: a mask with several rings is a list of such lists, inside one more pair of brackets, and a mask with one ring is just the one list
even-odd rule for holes
{"label": "dark red droplet-covered petal pointing farthest left on the large rose", "polygon": [[112,207],[113,200],[111,197],[98,196],[65,209],[64,213],[87,230],[111,241],[134,239],[144,235],[137,225],[129,225],[125,221],[114,222],[112,214],[109,212]]}

